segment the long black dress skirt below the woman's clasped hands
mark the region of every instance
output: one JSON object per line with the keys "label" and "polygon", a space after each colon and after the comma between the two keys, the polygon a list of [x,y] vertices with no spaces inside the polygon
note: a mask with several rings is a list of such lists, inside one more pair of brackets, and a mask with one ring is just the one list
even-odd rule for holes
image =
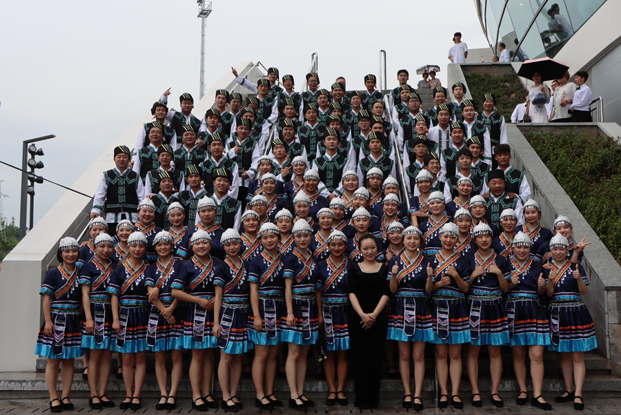
{"label": "long black dress skirt below the woman's clasped hands", "polygon": [[348,316],[349,344],[353,367],[354,405],[377,407],[380,404],[380,380],[386,330],[386,311],[382,311],[371,329],[363,329],[360,317],[353,311]]}

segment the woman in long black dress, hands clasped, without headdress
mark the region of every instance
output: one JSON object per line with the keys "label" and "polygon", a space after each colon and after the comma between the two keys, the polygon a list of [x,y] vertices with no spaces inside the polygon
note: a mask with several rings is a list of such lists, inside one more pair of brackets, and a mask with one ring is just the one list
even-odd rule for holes
{"label": "woman in long black dress, hands clasped, without headdress", "polygon": [[351,359],[354,367],[354,405],[360,409],[377,407],[380,403],[380,377],[384,354],[387,317],[384,309],[391,294],[388,266],[375,261],[377,241],[371,233],[359,240],[363,261],[351,264],[347,289]]}

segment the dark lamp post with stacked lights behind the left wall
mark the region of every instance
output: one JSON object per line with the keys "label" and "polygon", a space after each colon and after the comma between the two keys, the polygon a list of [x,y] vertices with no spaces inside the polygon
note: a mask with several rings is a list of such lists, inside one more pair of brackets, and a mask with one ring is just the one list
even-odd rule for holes
{"label": "dark lamp post with stacked lights behind the left wall", "polygon": [[[35,142],[43,141],[56,137],[55,135],[45,135],[23,141],[21,152],[21,206],[19,215],[19,240],[26,236],[26,209],[28,204],[28,196],[30,195],[30,228],[34,226],[34,184],[43,183],[43,178],[34,176],[34,169],[43,168],[43,162],[34,160],[34,156],[43,155],[43,148],[37,148]],[[28,155],[30,154],[30,158]],[[30,173],[27,169],[30,168]],[[30,182],[30,184],[28,184]]]}

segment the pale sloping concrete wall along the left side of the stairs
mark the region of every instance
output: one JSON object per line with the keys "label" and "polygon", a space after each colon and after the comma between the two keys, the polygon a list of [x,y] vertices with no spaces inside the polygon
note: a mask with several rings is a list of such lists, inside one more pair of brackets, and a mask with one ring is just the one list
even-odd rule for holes
{"label": "pale sloping concrete wall along the left side of the stairs", "polygon": [[[248,75],[250,80],[256,81],[263,76],[252,62],[239,62],[236,67],[240,75]],[[217,89],[230,90],[234,85],[237,84],[230,73],[221,77],[197,102],[195,115],[201,117],[213,106]],[[146,97],[146,106],[155,102],[161,92],[154,91],[152,97]],[[248,90],[243,88],[238,92],[247,93]],[[175,106],[177,96],[181,93],[183,91],[175,91],[170,99],[170,107]],[[110,147],[79,177],[72,189],[94,195],[101,172],[114,167],[112,154],[115,146],[125,144],[133,148],[143,124],[151,119],[150,111],[146,111],[126,133],[114,141],[110,140]],[[0,313],[3,316],[0,319],[0,332],[3,334],[0,336],[0,371],[34,369],[34,346],[41,318],[41,281],[48,265],[57,264],[58,241],[66,235],[77,238],[88,223],[91,206],[91,199],[66,192],[4,259],[0,274],[3,288],[0,290]]]}

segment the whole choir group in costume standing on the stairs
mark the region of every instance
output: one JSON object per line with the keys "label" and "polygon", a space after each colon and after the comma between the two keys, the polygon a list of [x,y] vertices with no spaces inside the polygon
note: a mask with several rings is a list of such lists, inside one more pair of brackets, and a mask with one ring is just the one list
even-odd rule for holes
{"label": "whole choir group in costume standing on the stairs", "polygon": [[354,405],[377,407],[382,360],[369,356],[385,354],[389,374],[402,378],[403,407],[420,411],[427,343],[435,345],[438,407],[464,405],[468,345],[471,405],[483,405],[486,347],[491,404],[502,407],[501,348],[509,346],[518,405],[529,400],[528,354],[531,405],[551,409],[542,397],[547,348],[558,351],[566,385],[556,401],[584,408],[582,354],[597,348],[582,300],[589,242],[571,243],[564,216],[553,229],[540,225],[493,95],[479,112],[463,99],[464,84],[452,86],[453,102],[437,86],[435,106],[423,110],[406,70],[386,97],[371,74],[366,91],[346,92],[340,78],[328,92],[308,73],[308,90],[296,93],[293,76],[277,83],[276,68],[257,84],[233,73],[257,94],[245,107],[238,93],[218,90],[214,108],[196,117],[190,94],[174,110],[167,90],[134,150],[115,148],[90,240],[59,242],[59,266],[41,286],[36,348],[48,358],[51,412],[73,408],[73,359],[81,356],[90,407],[115,406],[106,396],[112,352],[127,394],[119,407],[139,409],[150,351],[156,409],[177,407],[188,351],[193,409],[241,409],[250,364],[255,405],[282,406],[274,384],[284,344],[293,409],[315,405],[304,394],[309,354],[322,362],[327,405],[348,405],[351,361]]}

